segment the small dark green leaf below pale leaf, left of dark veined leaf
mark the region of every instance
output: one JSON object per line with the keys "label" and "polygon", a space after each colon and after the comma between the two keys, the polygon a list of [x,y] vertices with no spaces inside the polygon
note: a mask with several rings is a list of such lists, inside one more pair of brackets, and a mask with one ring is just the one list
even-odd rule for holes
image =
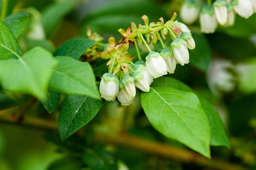
{"label": "small dark green leaf below pale leaf, left of dark veined leaf", "polygon": [[60,101],[61,95],[58,93],[47,92],[47,98],[41,103],[46,108],[48,113],[52,113]]}

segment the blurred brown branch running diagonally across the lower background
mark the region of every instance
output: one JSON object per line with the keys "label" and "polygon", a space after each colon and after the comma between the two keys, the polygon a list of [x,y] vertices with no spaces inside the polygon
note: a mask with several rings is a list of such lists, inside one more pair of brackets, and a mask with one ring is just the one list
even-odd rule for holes
{"label": "blurred brown branch running diagonally across the lower background", "polygon": [[[0,122],[20,124],[33,128],[45,130],[58,130],[58,124],[55,121],[39,119],[31,116],[18,117],[16,115],[0,113]],[[131,148],[148,152],[161,157],[166,157],[179,162],[195,163],[201,166],[215,168],[216,170],[249,170],[240,165],[229,163],[220,159],[207,159],[202,155],[181,148],[175,148],[159,142],[150,141],[141,137],[135,137],[128,134],[108,134],[96,132],[95,142],[104,144],[114,144],[124,148]]]}

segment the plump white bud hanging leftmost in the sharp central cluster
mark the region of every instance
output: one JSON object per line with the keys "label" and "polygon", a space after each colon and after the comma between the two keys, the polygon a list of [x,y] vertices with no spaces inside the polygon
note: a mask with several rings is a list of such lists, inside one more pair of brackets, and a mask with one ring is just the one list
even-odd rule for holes
{"label": "plump white bud hanging leftmost in the sharp central cluster", "polygon": [[101,77],[99,92],[101,97],[107,101],[114,101],[119,91],[119,80],[112,73],[105,73]]}

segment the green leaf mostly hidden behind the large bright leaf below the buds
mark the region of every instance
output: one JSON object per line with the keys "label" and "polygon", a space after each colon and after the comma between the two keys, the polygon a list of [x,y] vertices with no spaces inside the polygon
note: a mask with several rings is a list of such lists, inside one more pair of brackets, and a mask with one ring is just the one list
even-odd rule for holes
{"label": "green leaf mostly hidden behind the large bright leaf below the buds", "polygon": [[[152,86],[156,86],[156,85],[170,86],[180,91],[188,91],[188,92],[195,93],[189,86],[171,77],[160,77],[158,79],[155,79],[154,82],[152,83]],[[227,138],[227,134],[219,114],[206,99],[204,99],[198,94],[196,95],[198,96],[198,99],[202,104],[204,113],[208,117],[209,125],[211,128],[210,145],[211,146],[227,146],[229,148],[230,147],[229,139]]]}

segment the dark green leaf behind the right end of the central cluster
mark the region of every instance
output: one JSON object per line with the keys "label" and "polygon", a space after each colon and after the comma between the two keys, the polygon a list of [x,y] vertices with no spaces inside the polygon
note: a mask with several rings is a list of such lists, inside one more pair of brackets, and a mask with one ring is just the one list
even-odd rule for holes
{"label": "dark green leaf behind the right end of the central cluster", "polygon": [[211,49],[203,34],[192,33],[195,49],[189,50],[189,64],[206,73],[211,61]]}

